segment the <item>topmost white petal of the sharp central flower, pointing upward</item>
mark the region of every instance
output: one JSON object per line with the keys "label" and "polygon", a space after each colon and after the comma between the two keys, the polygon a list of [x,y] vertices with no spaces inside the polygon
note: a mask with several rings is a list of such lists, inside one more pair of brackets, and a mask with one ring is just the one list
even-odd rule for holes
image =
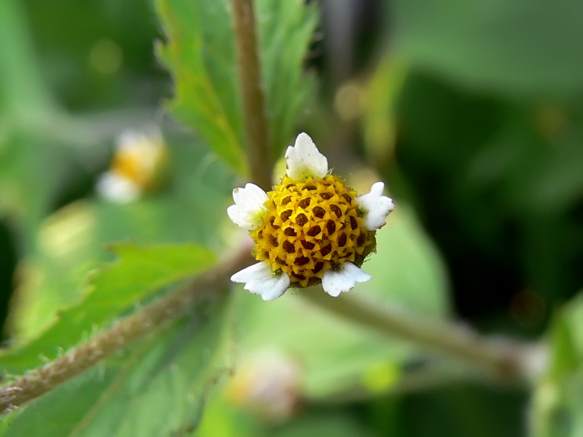
{"label": "topmost white petal of the sharp central flower, pointing upward", "polygon": [[328,160],[305,132],[297,136],[294,146],[287,147],[286,163],[287,175],[292,179],[323,178],[328,172]]}

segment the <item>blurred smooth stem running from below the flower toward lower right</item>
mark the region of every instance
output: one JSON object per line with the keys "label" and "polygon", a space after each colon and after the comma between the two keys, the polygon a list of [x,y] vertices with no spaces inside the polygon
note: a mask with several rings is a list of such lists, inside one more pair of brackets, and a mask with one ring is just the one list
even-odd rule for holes
{"label": "blurred smooth stem running from below the flower toward lower right", "polygon": [[540,346],[494,340],[469,328],[380,308],[347,294],[333,298],[321,290],[306,290],[301,295],[345,319],[458,358],[503,382],[535,378],[545,366],[546,351]]}

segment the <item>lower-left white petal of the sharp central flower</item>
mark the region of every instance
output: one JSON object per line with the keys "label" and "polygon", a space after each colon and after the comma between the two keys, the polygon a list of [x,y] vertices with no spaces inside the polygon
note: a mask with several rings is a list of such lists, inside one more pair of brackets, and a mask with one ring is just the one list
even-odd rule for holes
{"label": "lower-left white petal of the sharp central flower", "polygon": [[264,301],[271,301],[286,292],[290,277],[285,273],[273,273],[268,263],[261,261],[245,267],[231,276],[231,281],[244,283],[245,290],[261,295]]}

